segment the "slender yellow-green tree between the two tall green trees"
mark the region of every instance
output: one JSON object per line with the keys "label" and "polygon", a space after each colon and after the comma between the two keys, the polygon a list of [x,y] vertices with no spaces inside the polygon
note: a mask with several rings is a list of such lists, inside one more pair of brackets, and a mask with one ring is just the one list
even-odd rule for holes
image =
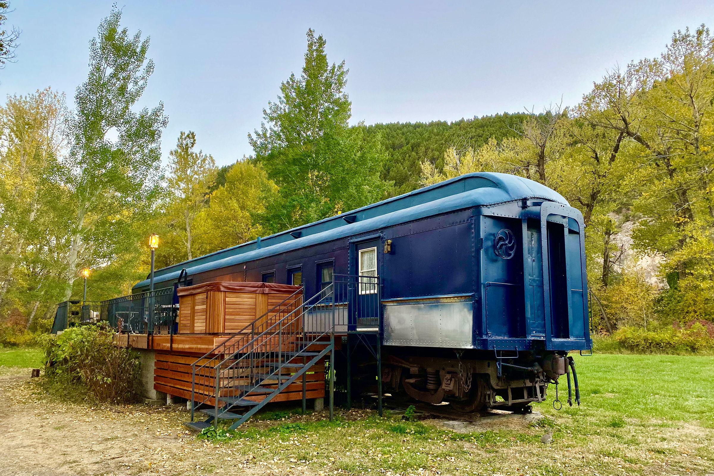
{"label": "slender yellow-green tree between the two tall green trees", "polygon": [[174,223],[171,228],[174,229],[174,233],[181,236],[189,260],[193,259],[193,221],[206,205],[217,172],[213,156],[206,155],[203,151],[196,152],[193,150],[194,147],[196,147],[196,133],[181,131],[176,148],[169,153],[171,157],[169,187],[174,193],[171,207],[178,214],[176,217],[178,223]]}

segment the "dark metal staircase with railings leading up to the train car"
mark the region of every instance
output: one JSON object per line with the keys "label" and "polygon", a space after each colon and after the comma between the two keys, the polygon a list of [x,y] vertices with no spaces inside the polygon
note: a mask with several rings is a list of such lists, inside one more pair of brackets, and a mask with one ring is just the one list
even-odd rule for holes
{"label": "dark metal staircase with railings leading up to the train car", "polygon": [[[298,378],[304,412],[308,370],[328,354],[333,369],[334,286],[308,300],[303,290],[296,291],[196,360],[191,366],[191,421],[184,425],[200,431],[218,427],[218,420],[236,420],[234,430]],[[329,381],[332,420],[334,383]],[[194,421],[196,411],[208,418]]]}

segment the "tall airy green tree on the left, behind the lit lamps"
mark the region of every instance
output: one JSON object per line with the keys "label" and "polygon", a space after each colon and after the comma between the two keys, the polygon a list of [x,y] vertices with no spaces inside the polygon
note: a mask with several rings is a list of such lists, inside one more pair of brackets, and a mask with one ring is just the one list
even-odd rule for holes
{"label": "tall airy green tree on the left, behind the lit lamps", "polygon": [[81,266],[106,265],[133,247],[135,221],[159,197],[164,105],[134,111],[154,72],[149,38],[120,29],[113,9],[91,41],[89,77],[77,88],[73,140],[59,177],[66,184],[66,298]]}

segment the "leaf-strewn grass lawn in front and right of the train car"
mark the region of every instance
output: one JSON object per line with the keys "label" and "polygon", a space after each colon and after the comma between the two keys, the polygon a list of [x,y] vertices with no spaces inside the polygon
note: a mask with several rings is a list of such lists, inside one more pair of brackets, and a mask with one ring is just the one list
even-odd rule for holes
{"label": "leaf-strewn grass lawn in front and right of the train car", "polygon": [[[708,475],[714,473],[714,358],[575,357],[582,405],[553,410],[555,388],[535,405],[543,419],[456,434],[429,422],[341,412],[336,422],[286,417],[216,445],[203,471],[266,465],[293,473],[432,475]],[[540,437],[553,430],[553,443]],[[258,466],[259,467],[259,466]],[[222,469],[225,468],[225,469]]]}

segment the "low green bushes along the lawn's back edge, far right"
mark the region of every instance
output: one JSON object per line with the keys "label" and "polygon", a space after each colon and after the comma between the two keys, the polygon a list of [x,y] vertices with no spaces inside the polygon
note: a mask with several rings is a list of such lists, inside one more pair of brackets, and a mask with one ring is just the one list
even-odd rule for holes
{"label": "low green bushes along the lawn's back edge, far right", "polygon": [[699,352],[713,350],[714,339],[707,328],[695,323],[688,329],[644,330],[626,327],[615,332],[615,340],[625,349],[638,353]]}

